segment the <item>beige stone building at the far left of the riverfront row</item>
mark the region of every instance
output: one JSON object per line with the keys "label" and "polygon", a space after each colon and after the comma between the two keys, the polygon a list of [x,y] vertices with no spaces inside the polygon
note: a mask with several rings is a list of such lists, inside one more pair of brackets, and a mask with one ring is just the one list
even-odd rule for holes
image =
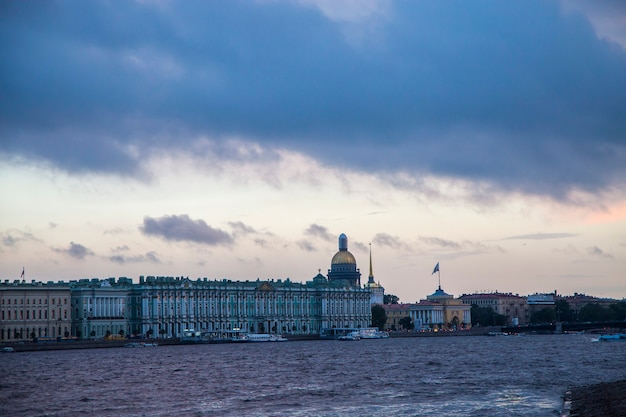
{"label": "beige stone building at the far left of the riverfront row", "polygon": [[70,289],[62,283],[0,283],[0,341],[58,338],[71,334]]}

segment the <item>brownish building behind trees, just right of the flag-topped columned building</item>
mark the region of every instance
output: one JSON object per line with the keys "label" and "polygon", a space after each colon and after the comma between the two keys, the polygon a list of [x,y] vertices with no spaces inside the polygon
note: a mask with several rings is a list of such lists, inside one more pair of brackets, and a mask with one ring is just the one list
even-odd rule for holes
{"label": "brownish building behind trees, just right of the flag-topped columned building", "polygon": [[507,325],[525,325],[529,321],[529,307],[526,297],[512,293],[490,292],[463,294],[459,297],[464,304],[491,309],[507,318]]}

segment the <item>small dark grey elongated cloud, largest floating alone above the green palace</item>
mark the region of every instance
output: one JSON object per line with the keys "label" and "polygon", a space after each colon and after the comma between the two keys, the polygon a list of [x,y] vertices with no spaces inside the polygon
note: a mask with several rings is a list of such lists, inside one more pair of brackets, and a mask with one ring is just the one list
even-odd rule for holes
{"label": "small dark grey elongated cloud, largest floating alone above the green palace", "polygon": [[233,238],[220,229],[206,224],[202,219],[192,220],[187,214],[163,216],[159,218],[144,217],[139,230],[148,236],[158,236],[174,242],[194,242],[205,245],[231,245]]}

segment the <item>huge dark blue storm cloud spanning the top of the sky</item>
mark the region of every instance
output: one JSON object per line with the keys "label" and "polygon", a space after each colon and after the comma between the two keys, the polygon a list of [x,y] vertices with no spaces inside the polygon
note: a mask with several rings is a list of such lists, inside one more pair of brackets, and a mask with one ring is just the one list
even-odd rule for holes
{"label": "huge dark blue storm cloud spanning the top of the sky", "polygon": [[392,2],[358,41],[295,2],[2,7],[8,155],[135,175],[237,135],[556,198],[626,179],[626,51],[557,2]]}

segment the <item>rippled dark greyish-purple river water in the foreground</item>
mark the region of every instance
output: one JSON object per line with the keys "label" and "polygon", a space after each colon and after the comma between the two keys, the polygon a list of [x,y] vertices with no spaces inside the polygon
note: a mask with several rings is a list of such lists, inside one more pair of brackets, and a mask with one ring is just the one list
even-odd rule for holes
{"label": "rippled dark greyish-purple river water in the foreground", "polygon": [[625,363],[588,335],[9,353],[0,416],[556,416]]}

